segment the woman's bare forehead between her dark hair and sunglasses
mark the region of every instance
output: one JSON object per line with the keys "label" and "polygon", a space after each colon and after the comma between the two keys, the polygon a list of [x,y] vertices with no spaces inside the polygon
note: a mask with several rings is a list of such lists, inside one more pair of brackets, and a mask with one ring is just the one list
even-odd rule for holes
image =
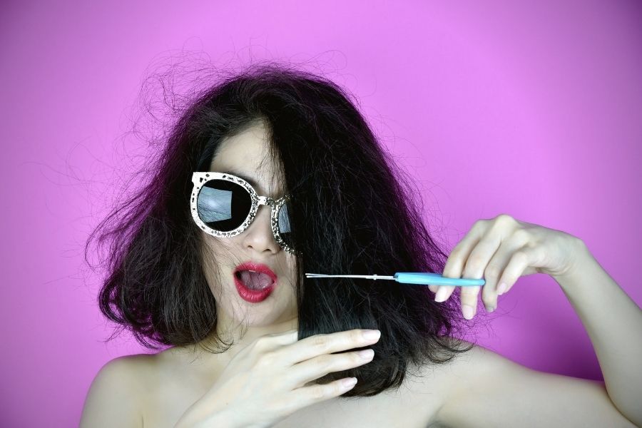
{"label": "woman's bare forehead between her dark hair and sunglasses", "polygon": [[270,156],[263,124],[247,128],[221,141],[210,163],[210,171],[228,172],[244,178],[261,195],[282,194],[282,176]]}

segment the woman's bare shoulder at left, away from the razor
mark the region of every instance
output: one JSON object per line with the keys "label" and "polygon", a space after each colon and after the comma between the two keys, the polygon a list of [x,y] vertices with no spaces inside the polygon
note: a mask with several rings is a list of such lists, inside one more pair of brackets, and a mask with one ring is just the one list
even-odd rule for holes
{"label": "woman's bare shoulder at left, away from the razor", "polygon": [[93,378],[80,427],[143,427],[152,355],[124,355],[106,362]]}

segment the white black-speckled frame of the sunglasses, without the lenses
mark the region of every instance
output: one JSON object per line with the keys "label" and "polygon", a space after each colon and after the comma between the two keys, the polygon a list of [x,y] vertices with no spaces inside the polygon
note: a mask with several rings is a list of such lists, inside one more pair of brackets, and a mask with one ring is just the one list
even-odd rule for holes
{"label": "white black-speckled frame of the sunglasses, without the lenses", "polygon": [[[227,180],[232,183],[241,185],[245,190],[250,193],[250,198],[252,199],[252,206],[250,207],[250,213],[248,217],[243,220],[243,223],[238,228],[234,230],[229,230],[228,232],[220,232],[219,230],[214,230],[208,225],[205,225],[203,220],[198,216],[198,193],[200,189],[203,188],[203,185],[209,180]],[[259,196],[256,193],[256,190],[248,183],[243,180],[243,178],[237,177],[236,175],[226,174],[226,173],[212,173],[212,172],[193,172],[192,173],[192,183],[194,187],[192,188],[192,196],[190,198],[190,210],[192,211],[192,218],[196,225],[201,228],[208,235],[216,236],[218,238],[230,238],[232,236],[239,235],[240,233],[245,232],[247,228],[250,227],[250,224],[254,221],[256,213],[258,212],[259,205],[268,205],[270,206],[271,211],[271,221],[270,226],[272,228],[272,235],[274,235],[275,240],[280,245],[280,247],[292,255],[301,255],[300,252],[296,251],[294,248],[287,245],[279,235],[279,211],[282,205],[285,204],[287,200],[291,199],[291,195],[283,195],[278,199],[270,198],[269,196]],[[288,213],[289,214],[289,213]]]}

